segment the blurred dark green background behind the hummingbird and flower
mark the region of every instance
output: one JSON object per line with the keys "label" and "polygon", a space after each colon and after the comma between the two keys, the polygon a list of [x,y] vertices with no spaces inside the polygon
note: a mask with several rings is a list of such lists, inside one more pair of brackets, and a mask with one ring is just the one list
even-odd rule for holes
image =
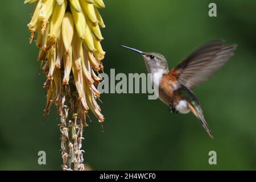
{"label": "blurred dark green background behind the hummingbird and flower", "polygon": [[[171,114],[147,94],[102,94],[105,132],[93,118],[85,129],[85,161],[94,170],[255,170],[256,169],[256,2],[105,0],[101,10],[106,51],[105,72],[144,73],[139,55],[119,44],[160,52],[174,67],[196,47],[212,39],[237,43],[232,59],[195,93],[214,139],[192,114]],[[31,5],[4,1],[0,6],[0,169],[60,170],[59,118],[46,104],[39,75],[38,49],[28,44]],[[92,116],[92,114],[91,114]],[[38,151],[47,154],[39,166]],[[217,165],[208,152],[217,152]]]}

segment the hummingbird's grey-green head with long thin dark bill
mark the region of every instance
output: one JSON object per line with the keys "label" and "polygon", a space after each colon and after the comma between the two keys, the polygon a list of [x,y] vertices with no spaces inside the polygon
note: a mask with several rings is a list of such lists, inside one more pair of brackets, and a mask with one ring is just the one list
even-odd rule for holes
{"label": "hummingbird's grey-green head with long thin dark bill", "polygon": [[137,52],[140,55],[142,55],[147,66],[147,71],[149,73],[156,72],[159,70],[162,70],[164,73],[169,72],[166,58],[160,53],[143,52],[143,51],[139,51],[138,49],[127,47],[127,46],[121,46],[121,47],[130,49],[131,51]]}

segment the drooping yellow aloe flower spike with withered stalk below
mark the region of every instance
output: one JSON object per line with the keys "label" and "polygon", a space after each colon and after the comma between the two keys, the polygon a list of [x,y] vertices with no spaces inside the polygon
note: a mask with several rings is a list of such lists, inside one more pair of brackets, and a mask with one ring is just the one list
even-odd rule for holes
{"label": "drooping yellow aloe flower spike with withered stalk below", "polygon": [[[60,114],[61,154],[64,170],[84,170],[82,131],[89,118],[88,110],[104,122],[97,104],[100,92],[98,71],[105,52],[101,47],[100,28],[105,24],[98,9],[102,0],[25,0],[34,3],[28,29],[30,43],[35,39],[38,60],[46,73],[47,90],[44,117],[55,104]],[[36,35],[37,33],[37,35]],[[41,69],[40,69],[41,70]]]}

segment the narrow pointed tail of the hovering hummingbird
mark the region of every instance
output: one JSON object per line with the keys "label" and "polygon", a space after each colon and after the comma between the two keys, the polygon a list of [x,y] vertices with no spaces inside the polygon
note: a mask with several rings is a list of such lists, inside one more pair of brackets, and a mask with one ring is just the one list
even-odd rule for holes
{"label": "narrow pointed tail of the hovering hummingbird", "polygon": [[193,106],[192,104],[188,104],[188,107],[192,111],[192,113],[197,117],[201,125],[203,125],[204,129],[210,135],[210,138],[213,138],[212,131],[210,130],[210,127],[205,121],[203,110],[201,109],[200,105]]}

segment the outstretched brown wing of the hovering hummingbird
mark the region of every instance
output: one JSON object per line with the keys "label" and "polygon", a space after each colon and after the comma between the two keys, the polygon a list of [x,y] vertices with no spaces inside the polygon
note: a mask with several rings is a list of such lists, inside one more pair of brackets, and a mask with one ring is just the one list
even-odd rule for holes
{"label": "outstretched brown wing of the hovering hummingbird", "polygon": [[170,71],[189,89],[207,81],[234,54],[236,44],[224,45],[223,40],[213,40],[201,46]]}

